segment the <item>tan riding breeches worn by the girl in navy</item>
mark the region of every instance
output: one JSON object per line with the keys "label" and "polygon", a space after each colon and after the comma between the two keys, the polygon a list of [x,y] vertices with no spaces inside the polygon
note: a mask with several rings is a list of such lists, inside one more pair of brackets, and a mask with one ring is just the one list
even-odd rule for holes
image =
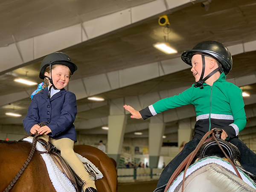
{"label": "tan riding breeches worn by the girl in navy", "polygon": [[[39,136],[38,138],[44,139],[47,142],[49,140],[49,136],[45,134]],[[63,159],[67,161],[74,172],[76,172],[76,174],[87,183],[87,185],[83,188],[86,189],[87,187],[93,187],[96,189],[94,181],[90,179],[89,173],[85,170],[83,163],[76,156],[73,150],[74,141],[69,138],[61,138],[58,140],[52,139],[52,145],[55,145],[55,147],[61,151],[61,156]]]}

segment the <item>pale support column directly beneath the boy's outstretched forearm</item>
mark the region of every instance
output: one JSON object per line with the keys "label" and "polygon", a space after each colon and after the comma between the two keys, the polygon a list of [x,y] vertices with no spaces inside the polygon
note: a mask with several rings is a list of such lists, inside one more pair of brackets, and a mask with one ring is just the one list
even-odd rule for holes
{"label": "pale support column directly beneath the boy's outstretched forearm", "polygon": [[160,156],[160,149],[163,143],[163,134],[165,123],[163,122],[163,114],[152,116],[149,123],[149,166],[157,168]]}

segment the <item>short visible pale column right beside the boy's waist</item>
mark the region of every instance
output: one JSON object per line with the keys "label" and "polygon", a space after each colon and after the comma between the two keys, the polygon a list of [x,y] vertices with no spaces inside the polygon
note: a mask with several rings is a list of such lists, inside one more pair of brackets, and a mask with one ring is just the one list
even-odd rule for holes
{"label": "short visible pale column right beside the boy's waist", "polygon": [[191,140],[192,129],[194,128],[195,122],[189,119],[179,120],[178,128],[178,146],[182,144],[183,141],[186,143]]}

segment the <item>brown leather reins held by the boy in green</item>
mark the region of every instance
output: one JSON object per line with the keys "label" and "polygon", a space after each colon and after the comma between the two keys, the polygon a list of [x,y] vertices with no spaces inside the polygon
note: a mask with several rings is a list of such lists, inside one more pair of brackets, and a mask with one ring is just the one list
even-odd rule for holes
{"label": "brown leather reins held by the boy in green", "polygon": [[[213,134],[212,134],[213,133]],[[207,139],[207,137],[212,134],[211,137],[209,137]],[[221,149],[221,151],[224,153],[224,155],[226,156],[227,160],[229,161],[229,163],[233,166],[234,170],[236,171],[237,176],[242,180],[241,175],[239,174],[236,166],[234,165],[234,163],[232,162],[232,160],[230,160],[230,157],[227,156],[227,154],[225,153],[225,151],[223,150],[223,148],[221,147],[221,145],[219,144],[218,140],[216,139],[215,136],[215,131],[214,129],[208,131],[204,137],[201,139],[201,141],[198,143],[197,147],[195,148],[194,151],[192,151],[185,160],[183,160],[182,163],[180,163],[180,165],[177,167],[177,169],[175,170],[175,172],[172,174],[171,178],[169,179],[166,188],[164,190],[164,192],[167,192],[167,190],[170,188],[170,186],[172,185],[173,181],[177,178],[177,176],[180,174],[180,172],[182,171],[182,169],[186,166],[185,170],[184,170],[184,174],[183,174],[183,181],[182,181],[182,190],[181,192],[184,191],[184,183],[185,183],[185,177],[186,177],[186,171],[189,168],[190,163],[192,162],[192,160],[194,159],[195,155],[197,154],[199,148],[201,147],[201,145],[211,139],[214,139],[215,142],[217,143],[217,145],[219,146],[219,148]]]}

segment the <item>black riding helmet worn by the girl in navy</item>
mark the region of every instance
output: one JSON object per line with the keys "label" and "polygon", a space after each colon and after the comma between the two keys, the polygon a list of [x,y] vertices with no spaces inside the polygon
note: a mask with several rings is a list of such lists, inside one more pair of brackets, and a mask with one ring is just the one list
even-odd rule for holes
{"label": "black riding helmet worn by the girl in navy", "polygon": [[47,55],[41,62],[39,77],[41,79],[44,79],[45,78],[44,71],[46,67],[48,67],[49,65],[51,65],[52,67],[52,65],[55,65],[55,64],[61,64],[61,65],[67,66],[71,71],[71,75],[73,75],[73,73],[77,70],[76,65],[71,61],[69,56],[67,56],[63,52],[54,52]]}

